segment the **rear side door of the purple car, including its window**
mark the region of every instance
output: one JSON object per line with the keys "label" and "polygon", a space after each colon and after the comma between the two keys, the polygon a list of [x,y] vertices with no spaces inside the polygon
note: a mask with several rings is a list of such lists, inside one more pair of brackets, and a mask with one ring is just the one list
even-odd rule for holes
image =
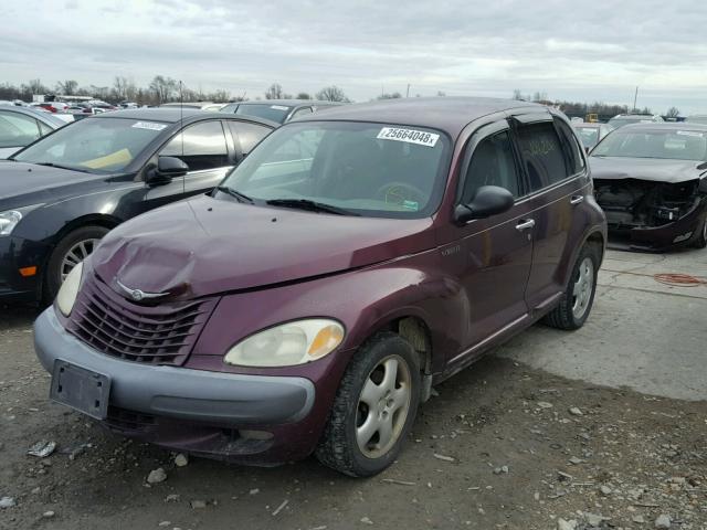
{"label": "rear side door of the purple car, including its window", "polygon": [[[581,147],[570,126],[550,113],[514,116],[529,205],[532,267],[526,301],[531,311],[550,307],[566,288],[567,254],[581,239],[576,209],[589,191]],[[570,265],[571,266],[571,265]]]}

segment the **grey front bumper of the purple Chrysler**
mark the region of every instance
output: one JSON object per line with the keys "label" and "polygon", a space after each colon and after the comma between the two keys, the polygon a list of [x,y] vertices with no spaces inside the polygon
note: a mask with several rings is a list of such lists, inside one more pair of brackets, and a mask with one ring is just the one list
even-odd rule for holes
{"label": "grey front bumper of the purple Chrysler", "polygon": [[150,416],[221,427],[279,425],[305,418],[315,400],[315,386],[305,378],[210,372],[105,356],[70,335],[53,307],[34,324],[34,348],[50,372],[61,359],[107,375],[110,406]]}

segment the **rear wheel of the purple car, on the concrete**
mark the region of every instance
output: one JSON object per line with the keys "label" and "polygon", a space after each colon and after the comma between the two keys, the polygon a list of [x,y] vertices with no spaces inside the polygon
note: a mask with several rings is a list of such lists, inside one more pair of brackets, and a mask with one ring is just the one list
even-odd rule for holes
{"label": "rear wheel of the purple car, on the concrete", "polygon": [[[545,317],[545,324],[566,330],[579,329],[584,325],[594,303],[599,263],[597,247],[584,245],[574,262],[560,303]],[[579,292],[576,293],[576,289]]]}

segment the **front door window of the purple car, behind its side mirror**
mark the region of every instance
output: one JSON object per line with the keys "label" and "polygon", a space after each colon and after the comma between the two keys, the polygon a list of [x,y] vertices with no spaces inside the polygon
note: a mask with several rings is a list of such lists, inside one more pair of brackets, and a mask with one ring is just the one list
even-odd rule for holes
{"label": "front door window of the purple car, behind its side mirror", "polygon": [[509,132],[497,132],[484,138],[474,149],[464,180],[462,203],[472,202],[482,186],[498,186],[519,197],[518,180]]}

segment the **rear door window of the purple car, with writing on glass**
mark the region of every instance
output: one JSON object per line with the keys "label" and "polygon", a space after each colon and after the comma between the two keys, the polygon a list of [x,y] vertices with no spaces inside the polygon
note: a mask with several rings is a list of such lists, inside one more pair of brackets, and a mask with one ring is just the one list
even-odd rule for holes
{"label": "rear door window of the purple car, with writing on glass", "polygon": [[517,130],[518,146],[531,192],[560,182],[569,176],[564,151],[552,121],[521,124]]}

